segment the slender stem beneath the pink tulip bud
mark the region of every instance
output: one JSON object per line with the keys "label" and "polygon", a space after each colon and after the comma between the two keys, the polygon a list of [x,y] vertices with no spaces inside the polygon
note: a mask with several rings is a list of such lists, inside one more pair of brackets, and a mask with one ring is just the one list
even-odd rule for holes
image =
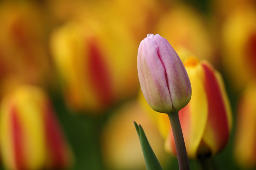
{"label": "slender stem beneath the pink tulip bud", "polygon": [[171,112],[167,114],[169,116],[171,126],[172,126],[172,133],[175,142],[178,164],[180,170],[189,170],[188,164],[188,155],[186,151],[186,146],[180,126],[180,118],[179,112]]}

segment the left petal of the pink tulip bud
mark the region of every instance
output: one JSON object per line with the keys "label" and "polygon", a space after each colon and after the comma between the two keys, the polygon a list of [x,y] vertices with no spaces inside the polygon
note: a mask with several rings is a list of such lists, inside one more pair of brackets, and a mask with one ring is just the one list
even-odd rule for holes
{"label": "left petal of the pink tulip bud", "polygon": [[149,106],[157,112],[169,113],[172,110],[172,100],[167,87],[165,69],[157,51],[158,46],[153,39],[145,38],[140,42],[138,75]]}

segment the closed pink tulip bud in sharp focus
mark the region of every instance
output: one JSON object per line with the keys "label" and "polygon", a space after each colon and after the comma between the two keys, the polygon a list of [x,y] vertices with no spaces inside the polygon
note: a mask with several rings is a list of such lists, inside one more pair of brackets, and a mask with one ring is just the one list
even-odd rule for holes
{"label": "closed pink tulip bud in sharp focus", "polygon": [[143,95],[155,111],[170,113],[188,104],[188,74],[175,50],[159,34],[148,34],[140,42],[138,75]]}

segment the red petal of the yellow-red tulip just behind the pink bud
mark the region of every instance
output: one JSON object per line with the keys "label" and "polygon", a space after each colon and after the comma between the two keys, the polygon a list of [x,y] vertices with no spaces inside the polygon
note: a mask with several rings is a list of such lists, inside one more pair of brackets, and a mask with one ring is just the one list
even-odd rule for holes
{"label": "red petal of the yellow-red tulip just behind the pink bud", "polygon": [[204,69],[204,88],[208,101],[208,119],[203,141],[210,147],[212,155],[221,150],[228,142],[228,116],[224,99],[210,64],[202,63]]}

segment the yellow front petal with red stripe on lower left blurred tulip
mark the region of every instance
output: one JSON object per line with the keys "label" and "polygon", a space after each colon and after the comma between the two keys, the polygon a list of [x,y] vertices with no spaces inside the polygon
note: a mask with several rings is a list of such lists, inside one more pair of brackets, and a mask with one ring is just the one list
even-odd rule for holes
{"label": "yellow front petal with red stripe on lower left blurred tulip", "polygon": [[10,97],[1,106],[0,146],[4,164],[13,169],[42,167],[45,161],[44,129],[37,102],[31,103],[23,89]]}

